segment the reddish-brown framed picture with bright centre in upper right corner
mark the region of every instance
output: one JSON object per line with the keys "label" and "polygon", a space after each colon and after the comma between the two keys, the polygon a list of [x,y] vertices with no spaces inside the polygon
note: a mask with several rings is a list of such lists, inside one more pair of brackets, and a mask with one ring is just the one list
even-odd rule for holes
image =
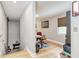
{"label": "reddish-brown framed picture with bright centre in upper right corner", "polygon": [[79,2],[73,1],[72,2],[72,16],[78,16],[79,15]]}

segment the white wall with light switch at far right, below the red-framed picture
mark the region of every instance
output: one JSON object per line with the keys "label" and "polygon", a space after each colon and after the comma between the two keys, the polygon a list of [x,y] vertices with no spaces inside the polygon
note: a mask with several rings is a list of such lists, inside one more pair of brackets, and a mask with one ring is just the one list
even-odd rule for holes
{"label": "white wall with light switch at far right, below the red-framed picture", "polygon": [[79,58],[79,16],[71,20],[71,51],[72,57]]}

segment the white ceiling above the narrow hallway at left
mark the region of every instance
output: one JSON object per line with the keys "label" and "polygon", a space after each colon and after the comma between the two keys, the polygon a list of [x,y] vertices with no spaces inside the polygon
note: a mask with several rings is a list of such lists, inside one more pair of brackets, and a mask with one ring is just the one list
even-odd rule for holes
{"label": "white ceiling above the narrow hallway at left", "polygon": [[10,20],[18,20],[27,4],[26,1],[16,1],[16,3],[13,1],[2,2],[4,11]]}

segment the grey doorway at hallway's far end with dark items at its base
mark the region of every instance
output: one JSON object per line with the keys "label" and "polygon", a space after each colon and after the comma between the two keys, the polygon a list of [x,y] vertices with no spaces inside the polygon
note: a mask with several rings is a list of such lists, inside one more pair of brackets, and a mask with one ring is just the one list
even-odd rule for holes
{"label": "grey doorway at hallway's far end with dark items at its base", "polygon": [[7,22],[7,53],[20,50],[20,20]]}

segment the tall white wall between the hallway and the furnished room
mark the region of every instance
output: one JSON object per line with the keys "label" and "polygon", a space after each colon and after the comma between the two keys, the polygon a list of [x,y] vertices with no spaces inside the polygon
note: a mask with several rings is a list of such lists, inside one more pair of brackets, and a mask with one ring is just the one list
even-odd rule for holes
{"label": "tall white wall between the hallway and the furnished room", "polygon": [[35,53],[35,5],[29,2],[20,19],[20,38],[22,49]]}

